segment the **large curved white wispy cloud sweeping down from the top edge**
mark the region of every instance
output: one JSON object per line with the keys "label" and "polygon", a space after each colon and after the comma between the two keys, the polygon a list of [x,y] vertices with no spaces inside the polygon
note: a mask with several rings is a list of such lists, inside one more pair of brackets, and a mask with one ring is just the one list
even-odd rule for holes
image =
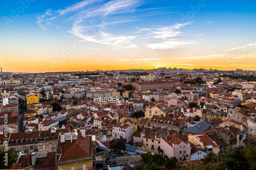
{"label": "large curved white wispy cloud sweeping down from the top edge", "polygon": [[132,13],[142,2],[142,0],[81,1],[65,9],[46,11],[38,17],[37,24],[43,30],[46,30],[55,26],[56,22],[69,22],[71,26],[69,32],[86,42],[113,45],[118,49],[136,48],[137,45],[131,43],[131,40],[137,36],[114,35],[102,30],[105,30],[108,26],[135,21],[135,19],[127,19],[117,14]]}

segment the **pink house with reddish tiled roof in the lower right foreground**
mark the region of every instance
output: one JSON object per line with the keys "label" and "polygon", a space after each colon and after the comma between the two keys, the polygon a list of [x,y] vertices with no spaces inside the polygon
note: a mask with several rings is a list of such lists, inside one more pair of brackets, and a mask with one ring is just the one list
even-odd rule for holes
{"label": "pink house with reddish tiled roof in the lower right foreground", "polygon": [[184,142],[174,135],[161,137],[160,148],[163,150],[163,155],[168,157],[176,157],[180,162],[190,160],[191,148],[188,141]]}

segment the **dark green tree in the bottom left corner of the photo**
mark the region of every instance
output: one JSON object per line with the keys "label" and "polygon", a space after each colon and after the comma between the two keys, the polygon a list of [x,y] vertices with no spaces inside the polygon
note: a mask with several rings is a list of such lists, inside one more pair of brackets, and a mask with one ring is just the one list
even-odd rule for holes
{"label": "dark green tree in the bottom left corner of the photo", "polygon": [[[7,159],[6,159],[7,157]],[[0,148],[0,168],[6,169],[11,168],[11,166],[16,163],[18,159],[18,155],[15,153],[14,149],[9,149],[5,147]],[[5,162],[5,160],[8,160],[8,162]]]}

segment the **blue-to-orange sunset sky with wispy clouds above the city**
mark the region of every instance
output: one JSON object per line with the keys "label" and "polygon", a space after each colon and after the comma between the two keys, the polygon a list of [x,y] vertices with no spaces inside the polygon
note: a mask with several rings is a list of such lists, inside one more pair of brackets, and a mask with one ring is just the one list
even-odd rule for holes
{"label": "blue-to-orange sunset sky with wispy clouds above the city", "polygon": [[0,1],[0,67],[256,70],[256,1]]}

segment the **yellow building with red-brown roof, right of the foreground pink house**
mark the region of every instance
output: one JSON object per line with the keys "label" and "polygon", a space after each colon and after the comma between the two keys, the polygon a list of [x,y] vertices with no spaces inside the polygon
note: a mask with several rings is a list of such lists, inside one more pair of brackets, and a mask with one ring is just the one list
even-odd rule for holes
{"label": "yellow building with red-brown roof, right of the foreground pink house", "polygon": [[215,142],[212,141],[207,135],[189,135],[188,141],[197,147],[200,146],[200,149],[207,153],[214,152],[215,154],[218,154],[219,152]]}

